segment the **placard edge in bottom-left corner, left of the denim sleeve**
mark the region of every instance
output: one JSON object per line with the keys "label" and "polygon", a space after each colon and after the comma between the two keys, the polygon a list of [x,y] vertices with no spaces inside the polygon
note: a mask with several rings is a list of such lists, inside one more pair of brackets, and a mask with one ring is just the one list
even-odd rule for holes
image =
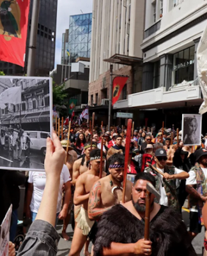
{"label": "placard edge in bottom-left corner, left of the denim sleeve", "polygon": [[8,256],[10,241],[10,223],[11,223],[12,205],[6,212],[6,216],[0,227],[0,256]]}

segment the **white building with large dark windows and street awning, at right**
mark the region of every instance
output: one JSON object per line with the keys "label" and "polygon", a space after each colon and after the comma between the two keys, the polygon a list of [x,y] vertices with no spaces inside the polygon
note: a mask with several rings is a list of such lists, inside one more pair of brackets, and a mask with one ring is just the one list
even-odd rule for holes
{"label": "white building with large dark windows and street awning, at right", "polygon": [[[181,129],[182,114],[199,112],[197,47],[206,27],[203,0],[146,0],[142,92],[128,95],[128,111],[141,109],[140,125]],[[196,10],[196,12],[195,12]],[[203,115],[203,126],[206,124]],[[147,122],[146,122],[147,121]]]}

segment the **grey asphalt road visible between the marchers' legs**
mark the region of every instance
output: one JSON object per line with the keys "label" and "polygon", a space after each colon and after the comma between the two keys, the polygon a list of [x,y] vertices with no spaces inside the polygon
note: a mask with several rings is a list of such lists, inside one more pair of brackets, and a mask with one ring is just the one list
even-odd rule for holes
{"label": "grey asphalt road visible between the marchers' legs", "polygon": [[[185,221],[185,224],[189,228],[189,214],[188,212],[183,211],[183,220]],[[169,221],[170,221],[170,216],[169,216]],[[57,232],[61,234],[62,231],[62,225],[57,226]],[[59,244],[58,244],[58,252],[57,256],[65,256],[68,255],[71,247],[71,242],[72,242],[72,236],[73,236],[73,231],[71,225],[68,225],[67,228],[68,236],[70,236],[70,241],[64,241],[63,238],[60,239]],[[203,240],[204,240],[204,228],[202,229],[201,234],[199,234],[197,237],[195,237],[193,241],[193,246],[195,248],[195,252],[197,253],[198,256],[202,256],[202,248],[203,248]],[[89,252],[91,250],[91,243],[89,246]],[[81,252],[81,256],[83,256],[84,253]]]}

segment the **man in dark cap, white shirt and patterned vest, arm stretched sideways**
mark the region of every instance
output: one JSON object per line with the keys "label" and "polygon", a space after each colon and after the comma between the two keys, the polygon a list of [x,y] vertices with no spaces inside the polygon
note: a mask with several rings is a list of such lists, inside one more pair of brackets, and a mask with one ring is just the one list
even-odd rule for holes
{"label": "man in dark cap, white shirt and patterned vest, arm stretched sideways", "polygon": [[171,206],[179,210],[180,207],[176,195],[176,179],[187,179],[189,174],[174,166],[167,166],[167,152],[164,148],[158,148],[155,151],[154,159],[156,162],[155,168],[164,173],[164,175],[154,172],[151,168],[146,168],[144,172],[150,172],[157,180],[156,189],[161,195],[159,204]]}

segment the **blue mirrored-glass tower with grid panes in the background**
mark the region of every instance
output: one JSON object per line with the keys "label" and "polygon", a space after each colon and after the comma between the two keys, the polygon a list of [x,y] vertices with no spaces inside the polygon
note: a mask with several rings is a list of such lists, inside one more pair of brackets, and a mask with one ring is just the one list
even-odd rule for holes
{"label": "blue mirrored-glass tower with grid panes in the background", "polygon": [[[75,62],[79,57],[91,56],[92,13],[70,16],[69,29],[63,33],[61,64]],[[70,52],[70,57],[67,54]]]}

